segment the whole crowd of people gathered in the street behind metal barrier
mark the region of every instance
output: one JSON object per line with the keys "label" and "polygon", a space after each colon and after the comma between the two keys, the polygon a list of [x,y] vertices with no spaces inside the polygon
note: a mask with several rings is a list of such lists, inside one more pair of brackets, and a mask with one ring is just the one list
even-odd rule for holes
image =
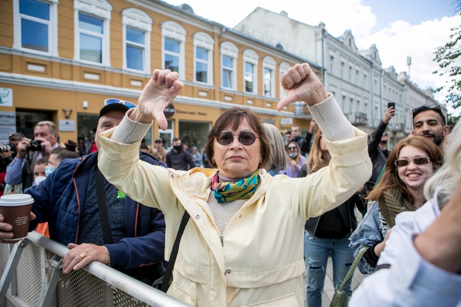
{"label": "whole crowd of people gathered in the street behind metal barrier", "polygon": [[[390,150],[395,108],[368,140],[297,64],[281,78],[277,108],[307,103],[304,137],[293,125],[284,139],[232,107],[202,153],[179,138],[171,151],[160,137],[147,146],[153,121],[166,128],[178,77],[155,70],[137,105],[106,100],[96,150],[81,157],[75,142],[60,146],[52,122],[37,123],[34,140],[10,136],[17,149],[1,155],[5,192],[30,194],[29,230],[48,223],[49,237],[68,246],[64,274],[99,261],[152,283],[187,211],[167,293],[193,306],[322,306],[328,257],[337,289],[362,247],[359,270],[371,275],[354,293],[346,282],[350,306],[460,306],[461,124],[449,134],[438,105],[414,109],[412,134]],[[10,238],[3,220],[0,239]]]}

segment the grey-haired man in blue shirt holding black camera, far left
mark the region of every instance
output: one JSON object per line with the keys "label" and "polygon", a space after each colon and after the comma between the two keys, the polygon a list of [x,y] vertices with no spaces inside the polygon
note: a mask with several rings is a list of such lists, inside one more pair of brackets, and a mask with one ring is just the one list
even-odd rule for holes
{"label": "grey-haired man in blue shirt holding black camera, far left", "polygon": [[17,146],[16,157],[6,167],[5,183],[23,184],[23,189],[32,185],[33,165],[35,161],[49,156],[52,149],[57,148],[58,134],[51,121],[41,121],[35,125],[34,140],[24,138]]}

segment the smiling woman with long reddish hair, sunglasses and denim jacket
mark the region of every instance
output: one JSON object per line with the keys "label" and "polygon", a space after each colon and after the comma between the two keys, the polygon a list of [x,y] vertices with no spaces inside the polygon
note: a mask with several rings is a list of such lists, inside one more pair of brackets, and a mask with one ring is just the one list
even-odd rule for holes
{"label": "smiling woman with long reddish hair, sunglasses and denim jacket", "polygon": [[383,176],[367,196],[373,204],[349,238],[356,253],[363,246],[370,247],[360,260],[360,272],[374,272],[395,216],[426,202],[424,183],[441,164],[442,152],[427,138],[414,136],[397,143],[387,158]]}

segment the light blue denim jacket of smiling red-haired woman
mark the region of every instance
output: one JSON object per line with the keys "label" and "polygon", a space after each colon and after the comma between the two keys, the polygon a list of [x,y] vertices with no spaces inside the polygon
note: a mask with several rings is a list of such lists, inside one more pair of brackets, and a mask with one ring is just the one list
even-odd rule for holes
{"label": "light blue denim jacket of smiling red-haired woman", "polygon": [[[349,241],[351,241],[349,247],[355,250],[354,256],[363,246],[371,247],[383,242],[387,230],[389,230],[389,226],[381,215],[378,201],[375,201],[368,208],[359,227],[349,237]],[[359,270],[362,274],[371,274],[375,271],[375,267],[362,257],[359,262]]]}

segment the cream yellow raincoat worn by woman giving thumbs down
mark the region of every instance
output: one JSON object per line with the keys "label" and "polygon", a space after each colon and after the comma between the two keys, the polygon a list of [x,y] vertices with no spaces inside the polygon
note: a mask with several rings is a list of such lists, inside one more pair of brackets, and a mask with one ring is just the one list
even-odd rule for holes
{"label": "cream yellow raincoat worn by woman giving thumbs down", "polygon": [[186,209],[168,294],[193,306],[303,306],[304,224],[342,204],[371,176],[367,136],[328,142],[332,159],[307,178],[259,170],[255,192],[220,237],[207,205],[215,170],[175,171],[139,160],[139,142],[119,144],[100,134],[99,168],[130,198],[163,211],[168,259]]}

